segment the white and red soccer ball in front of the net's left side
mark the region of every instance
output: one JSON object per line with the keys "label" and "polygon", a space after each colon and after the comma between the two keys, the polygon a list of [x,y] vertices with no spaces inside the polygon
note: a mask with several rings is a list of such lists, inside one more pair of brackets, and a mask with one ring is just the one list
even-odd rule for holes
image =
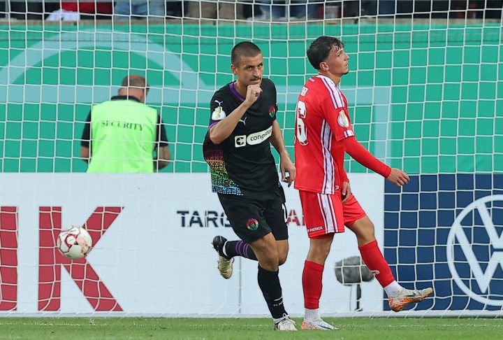
{"label": "white and red soccer ball in front of the net's left side", "polygon": [[91,250],[92,238],[86,229],[74,225],[70,229],[61,230],[56,246],[65,257],[78,260],[85,257]]}

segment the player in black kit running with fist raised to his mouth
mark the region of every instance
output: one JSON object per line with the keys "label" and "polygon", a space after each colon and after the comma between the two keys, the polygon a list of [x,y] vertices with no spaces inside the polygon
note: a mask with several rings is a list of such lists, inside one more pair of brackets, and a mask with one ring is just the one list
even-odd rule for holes
{"label": "player in black kit running with fist raised to his mouth", "polygon": [[276,120],[276,87],[263,78],[263,55],[257,45],[242,41],[231,52],[237,80],[214,93],[203,154],[210,165],[212,191],[235,234],[242,241],[213,239],[221,276],[230,278],[234,256],[258,260],[258,286],[274,319],[275,330],[295,331],[286,313],[279,265],[288,254],[284,192],[270,144],[280,160],[282,180],[291,183],[296,169],[284,146]]}

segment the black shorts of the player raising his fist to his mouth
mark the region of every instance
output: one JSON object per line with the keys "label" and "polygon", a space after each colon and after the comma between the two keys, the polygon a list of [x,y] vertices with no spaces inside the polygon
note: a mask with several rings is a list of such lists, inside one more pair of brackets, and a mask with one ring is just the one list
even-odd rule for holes
{"label": "black shorts of the player raising his fist to his mouth", "polygon": [[272,232],[277,241],[288,239],[286,206],[282,187],[257,196],[218,194],[231,226],[243,241],[251,243]]}

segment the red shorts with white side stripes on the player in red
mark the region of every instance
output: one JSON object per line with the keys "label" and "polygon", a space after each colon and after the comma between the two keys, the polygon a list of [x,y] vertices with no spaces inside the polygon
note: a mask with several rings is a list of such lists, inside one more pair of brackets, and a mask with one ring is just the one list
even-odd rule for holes
{"label": "red shorts with white side stripes on the player in red", "polygon": [[307,236],[310,239],[344,232],[344,225],[352,225],[354,221],[366,215],[354,195],[342,205],[338,194],[319,194],[304,190],[299,190],[299,194]]}

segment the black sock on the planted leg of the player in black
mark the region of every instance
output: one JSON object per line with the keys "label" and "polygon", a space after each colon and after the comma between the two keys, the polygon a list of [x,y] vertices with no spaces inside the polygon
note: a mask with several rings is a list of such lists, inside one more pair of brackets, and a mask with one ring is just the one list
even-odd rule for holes
{"label": "black sock on the planted leg of the player in black", "polygon": [[258,265],[258,287],[261,288],[271,316],[275,319],[282,318],[286,314],[278,274],[279,270],[268,271],[260,267],[260,264]]}

